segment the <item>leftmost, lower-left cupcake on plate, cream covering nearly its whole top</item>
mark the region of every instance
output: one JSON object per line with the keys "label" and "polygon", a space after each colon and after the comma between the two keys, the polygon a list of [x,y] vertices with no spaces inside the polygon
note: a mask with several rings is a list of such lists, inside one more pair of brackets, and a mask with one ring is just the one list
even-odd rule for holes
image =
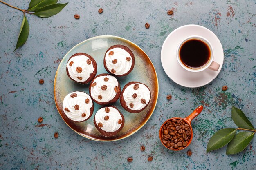
{"label": "leftmost, lower-left cupcake on plate, cream covering nearly its whole top", "polygon": [[88,120],[94,110],[91,97],[81,91],[74,91],[66,95],[62,108],[65,115],[75,122]]}

